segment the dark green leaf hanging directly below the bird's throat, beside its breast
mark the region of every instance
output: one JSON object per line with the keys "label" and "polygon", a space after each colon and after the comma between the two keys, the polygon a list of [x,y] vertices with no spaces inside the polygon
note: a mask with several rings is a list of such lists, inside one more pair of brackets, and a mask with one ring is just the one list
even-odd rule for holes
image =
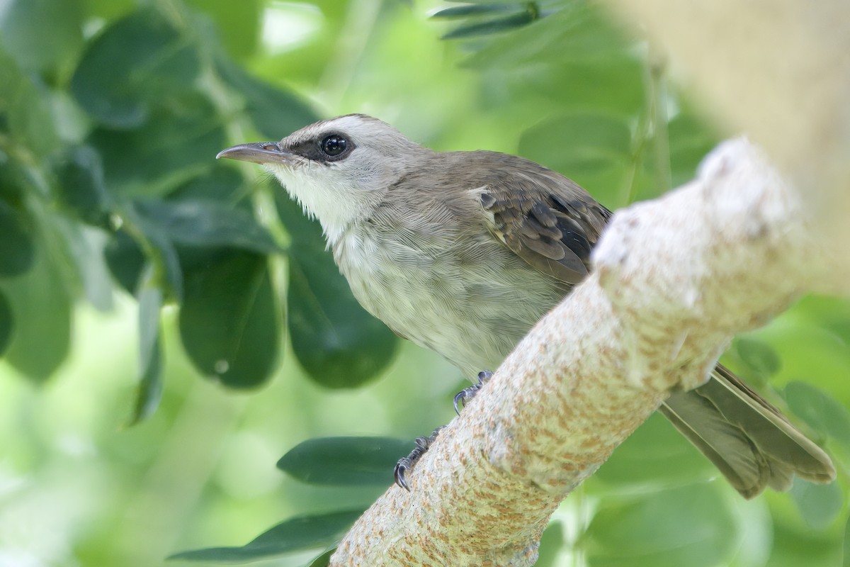
{"label": "dark green leaf hanging directly below the bird's throat, beside its breast", "polygon": [[318,223],[280,192],[277,202],[292,235],[286,294],[292,349],[317,383],[356,388],[388,366],[397,339],[354,299],[325,250]]}

